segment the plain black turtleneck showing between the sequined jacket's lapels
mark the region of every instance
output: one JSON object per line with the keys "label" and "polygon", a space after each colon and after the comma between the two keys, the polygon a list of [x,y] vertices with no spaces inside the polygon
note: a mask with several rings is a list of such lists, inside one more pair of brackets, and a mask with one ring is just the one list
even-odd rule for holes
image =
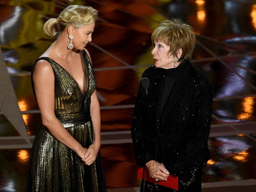
{"label": "plain black turtleneck showing between the sequined jacket's lapels", "polygon": [[165,102],[167,101],[167,98],[173,88],[173,85],[178,78],[180,72],[182,72],[184,66],[186,65],[186,62],[180,63],[175,68],[165,69],[165,68],[158,68],[160,72],[163,73],[163,76],[165,78],[165,86],[163,88],[163,95],[161,100],[161,106],[160,106],[160,113],[163,111],[163,107],[165,105]]}

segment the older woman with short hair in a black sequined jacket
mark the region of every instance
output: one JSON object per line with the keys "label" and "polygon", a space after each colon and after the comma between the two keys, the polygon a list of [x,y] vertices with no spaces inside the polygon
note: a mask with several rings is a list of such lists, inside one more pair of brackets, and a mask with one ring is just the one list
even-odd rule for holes
{"label": "older woman with short hair in a black sequined jacket", "polygon": [[[132,123],[135,158],[150,177],[178,176],[179,191],[201,190],[202,167],[210,159],[212,87],[189,59],[195,48],[193,29],[165,20],[152,33],[154,66],[142,77],[150,81],[147,97],[139,86]],[[145,191],[174,191],[145,182]]]}

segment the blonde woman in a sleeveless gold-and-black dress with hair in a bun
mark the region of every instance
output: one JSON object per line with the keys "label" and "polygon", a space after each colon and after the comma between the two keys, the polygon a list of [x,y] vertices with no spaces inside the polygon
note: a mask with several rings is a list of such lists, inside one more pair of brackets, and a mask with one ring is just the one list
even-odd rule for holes
{"label": "blonde woman in a sleeveless gold-and-black dress with hair in a bun", "polygon": [[106,191],[100,107],[89,52],[98,11],[72,5],[44,25],[58,39],[35,61],[32,86],[43,124],[35,136],[26,191]]}

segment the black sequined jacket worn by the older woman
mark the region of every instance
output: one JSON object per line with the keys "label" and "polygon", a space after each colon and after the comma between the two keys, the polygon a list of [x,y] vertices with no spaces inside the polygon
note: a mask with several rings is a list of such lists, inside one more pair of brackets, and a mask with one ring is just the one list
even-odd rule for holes
{"label": "black sequined jacket worn by the older woman", "polygon": [[164,74],[151,66],[142,77],[150,81],[148,95],[139,85],[132,122],[132,140],[139,167],[155,160],[173,174],[201,168],[210,159],[208,137],[213,104],[209,79],[189,61],[173,85],[160,114]]}

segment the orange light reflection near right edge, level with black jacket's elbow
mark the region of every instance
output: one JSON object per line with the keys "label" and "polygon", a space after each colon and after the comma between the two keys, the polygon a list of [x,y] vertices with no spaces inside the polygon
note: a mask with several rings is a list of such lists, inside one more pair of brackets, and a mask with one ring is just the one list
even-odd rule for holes
{"label": "orange light reflection near right edge, level with black jacket's elbow", "polygon": [[242,102],[242,113],[237,115],[237,119],[250,120],[254,112],[255,97],[246,97]]}

